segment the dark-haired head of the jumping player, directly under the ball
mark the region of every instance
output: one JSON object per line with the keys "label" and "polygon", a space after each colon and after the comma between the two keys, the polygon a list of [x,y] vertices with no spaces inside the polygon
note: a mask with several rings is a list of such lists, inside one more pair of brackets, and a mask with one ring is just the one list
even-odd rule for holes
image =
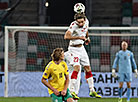
{"label": "dark-haired head of the jumping player, directly under the ball", "polygon": [[83,27],[85,24],[86,16],[85,13],[76,13],[74,15],[74,19],[76,20],[76,23],[79,27]]}

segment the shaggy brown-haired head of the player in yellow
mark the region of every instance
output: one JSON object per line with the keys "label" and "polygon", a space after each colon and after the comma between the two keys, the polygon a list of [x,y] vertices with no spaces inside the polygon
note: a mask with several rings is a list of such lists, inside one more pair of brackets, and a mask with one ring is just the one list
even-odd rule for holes
{"label": "shaggy brown-haired head of the player in yellow", "polygon": [[63,48],[56,48],[53,50],[51,55],[53,61],[59,61],[64,59],[64,50]]}

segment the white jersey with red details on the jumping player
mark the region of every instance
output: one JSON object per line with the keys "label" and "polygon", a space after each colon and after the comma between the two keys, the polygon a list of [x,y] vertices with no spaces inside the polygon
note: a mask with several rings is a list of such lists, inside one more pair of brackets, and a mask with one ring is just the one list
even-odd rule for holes
{"label": "white jersey with red details on the jumping player", "polygon": [[[71,25],[68,28],[68,31],[72,33],[72,36],[86,36],[86,33],[89,28],[89,21],[86,19],[85,24],[83,27],[79,28],[76,21],[73,21]],[[76,40],[70,40],[69,45],[78,45],[78,44],[84,44],[84,41],[81,39]]]}

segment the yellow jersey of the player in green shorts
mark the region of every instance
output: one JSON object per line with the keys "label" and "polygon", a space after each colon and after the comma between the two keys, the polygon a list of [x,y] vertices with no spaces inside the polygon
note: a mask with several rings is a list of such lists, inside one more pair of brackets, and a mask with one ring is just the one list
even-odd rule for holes
{"label": "yellow jersey of the player in green shorts", "polygon": [[[48,79],[48,83],[58,91],[62,91],[65,86],[65,75],[68,75],[68,67],[66,62],[61,61],[59,64],[55,64],[54,61],[49,62],[43,73],[43,78]],[[48,88],[48,92],[51,95],[52,90]]]}

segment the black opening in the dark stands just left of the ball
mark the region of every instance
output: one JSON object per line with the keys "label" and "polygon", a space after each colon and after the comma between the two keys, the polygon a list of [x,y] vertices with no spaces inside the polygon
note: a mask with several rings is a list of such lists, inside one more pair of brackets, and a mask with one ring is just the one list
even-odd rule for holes
{"label": "black opening in the dark stands just left of the ball", "polygon": [[[50,25],[68,25],[73,21],[74,12],[73,6],[81,2],[85,5],[85,0],[47,0],[48,19],[46,23]],[[49,21],[48,21],[49,20]]]}

